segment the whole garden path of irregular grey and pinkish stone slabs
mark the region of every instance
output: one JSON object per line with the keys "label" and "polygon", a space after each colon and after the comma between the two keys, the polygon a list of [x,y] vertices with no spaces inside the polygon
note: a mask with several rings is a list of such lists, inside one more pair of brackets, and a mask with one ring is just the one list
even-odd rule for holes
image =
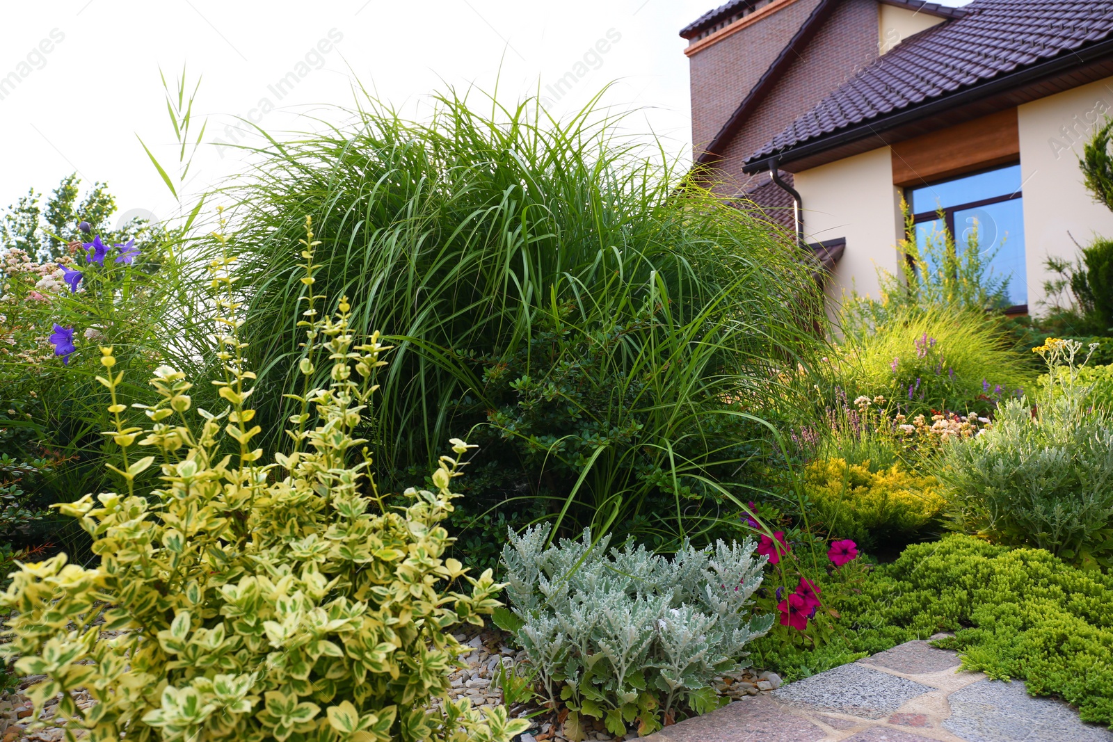
{"label": "whole garden path of irregular grey and pinkish stone slabs", "polygon": [[958,655],[907,642],[666,726],[647,742],[1113,742],[1024,683],[959,673]]}

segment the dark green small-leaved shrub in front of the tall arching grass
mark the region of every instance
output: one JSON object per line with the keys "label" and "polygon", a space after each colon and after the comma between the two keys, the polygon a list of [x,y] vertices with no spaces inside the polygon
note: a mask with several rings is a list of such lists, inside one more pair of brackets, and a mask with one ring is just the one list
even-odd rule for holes
{"label": "dark green small-leaved shrub in front of the tall arching grass", "polygon": [[580,524],[597,517],[620,533],[652,524],[673,547],[716,527],[723,508],[733,511],[731,495],[741,498],[735,483],[767,431],[728,404],[747,390],[715,372],[711,330],[700,344],[674,337],[659,306],[629,324],[578,326],[571,314],[539,318],[513,354],[462,359],[483,379],[484,404],[472,404],[487,425],[472,439],[513,462],[529,493],[513,505],[540,503],[542,514]]}

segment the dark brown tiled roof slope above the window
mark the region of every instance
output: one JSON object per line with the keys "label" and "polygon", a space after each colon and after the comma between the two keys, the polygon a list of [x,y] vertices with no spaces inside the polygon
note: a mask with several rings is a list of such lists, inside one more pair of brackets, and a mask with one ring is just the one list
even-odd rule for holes
{"label": "dark brown tiled roof slope above the window", "polygon": [[1113,32],[1113,0],[974,0],[908,37],[754,152],[766,159],[841,129],[1068,55]]}

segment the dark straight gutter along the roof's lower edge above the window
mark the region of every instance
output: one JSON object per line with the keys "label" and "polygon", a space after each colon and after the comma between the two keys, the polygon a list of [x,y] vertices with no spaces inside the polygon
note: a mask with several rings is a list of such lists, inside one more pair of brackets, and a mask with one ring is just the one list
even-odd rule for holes
{"label": "dark straight gutter along the roof's lower edge above the window", "polygon": [[918,119],[923,119],[935,113],[942,113],[946,110],[957,108],[968,102],[983,100],[989,96],[1005,92],[1027,82],[1038,80],[1040,78],[1050,77],[1057,72],[1081,67],[1086,62],[1091,62],[1110,55],[1113,55],[1113,38],[1084,49],[1073,51],[1067,49],[1064,50],[1061,56],[1055,57],[1054,59],[1048,59],[1047,61],[1033,67],[1011,72],[1004,77],[994,78],[972,88],[953,92],[943,98],[936,98],[935,100],[920,106],[906,108],[897,113],[893,113],[884,118],[874,119],[873,121],[859,123],[849,129],[844,129],[818,139],[806,141],[801,145],[784,149],[774,155],[767,155],[757,160],[747,161],[742,166],[742,172],[754,175],[778,167],[779,165],[784,165],[786,162],[794,162],[796,160],[804,159],[805,157],[810,157],[829,149],[835,149],[836,147],[849,145],[870,136],[878,136],[884,131],[895,129],[905,123],[912,123]]}

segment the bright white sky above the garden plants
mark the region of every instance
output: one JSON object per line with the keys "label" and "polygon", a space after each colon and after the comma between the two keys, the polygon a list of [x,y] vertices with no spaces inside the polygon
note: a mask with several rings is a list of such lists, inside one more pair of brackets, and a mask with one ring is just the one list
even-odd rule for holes
{"label": "bright white sky above the garden plants", "polygon": [[[961,6],[965,0],[937,0]],[[578,110],[608,82],[609,101],[643,109],[628,127],[656,131],[670,150],[689,148],[688,59],[677,32],[715,0],[57,0],[0,4],[0,79],[26,73],[0,99],[0,208],[29,187],[46,194],[77,170],[107,180],[121,211],[168,217],[176,208],[139,135],[164,166],[177,162],[159,66],[174,83],[183,63],[204,76],[198,107],[205,139],[224,138],[260,99],[276,110],[272,132],[305,128],[299,115],[348,105],[353,73],[377,96],[414,110],[424,96],[471,83],[513,101],[555,82],[600,39],[620,37],[556,101]],[[315,49],[329,31],[342,39]],[[42,53],[42,48],[50,48]],[[328,44],[326,44],[327,48]],[[605,44],[604,44],[605,46]],[[311,55],[312,71],[282,100],[268,90]],[[30,55],[30,58],[29,58]],[[20,67],[21,63],[28,63]],[[319,69],[316,67],[319,65]],[[30,72],[27,73],[27,70]],[[500,71],[501,70],[501,71]],[[301,71],[305,71],[302,68]],[[316,109],[316,110],[314,110]],[[260,116],[255,111],[256,117]],[[197,131],[197,129],[195,129]],[[203,146],[188,190],[235,172],[237,158]]]}

